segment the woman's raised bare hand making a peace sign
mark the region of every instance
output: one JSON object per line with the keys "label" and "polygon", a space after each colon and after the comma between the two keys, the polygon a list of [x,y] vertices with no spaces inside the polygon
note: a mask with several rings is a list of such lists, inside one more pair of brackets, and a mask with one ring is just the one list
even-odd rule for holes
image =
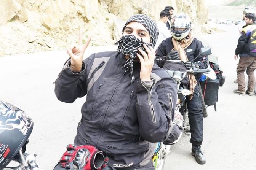
{"label": "woman's raised bare hand making a peace sign", "polygon": [[72,44],[69,48],[67,48],[67,54],[69,54],[71,58],[70,68],[74,73],[82,71],[83,54],[85,53],[85,49],[89,45],[90,41],[91,36],[88,37],[86,43],[83,44],[82,30],[79,30],[78,45]]}

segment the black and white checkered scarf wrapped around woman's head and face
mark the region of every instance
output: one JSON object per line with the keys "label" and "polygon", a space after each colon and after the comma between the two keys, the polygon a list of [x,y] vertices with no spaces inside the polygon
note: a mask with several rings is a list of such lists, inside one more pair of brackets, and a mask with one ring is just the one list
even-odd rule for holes
{"label": "black and white checkered scarf wrapped around woman's head and face", "polygon": [[126,56],[129,55],[129,59],[126,61],[125,65],[123,65],[122,68],[125,68],[125,73],[127,71],[130,71],[131,83],[133,83],[135,79],[133,75],[133,62],[134,62],[134,59],[136,58],[138,48],[141,48],[145,52],[146,52],[146,49],[144,48],[143,44],[146,44],[147,47],[152,46],[152,48],[154,48],[159,31],[157,28],[157,24],[149,16],[145,14],[138,14],[128,19],[125,26],[123,27],[123,32],[125,30],[126,25],[128,25],[131,21],[136,21],[141,23],[149,32],[150,41],[151,41],[151,43],[145,43],[142,41],[142,39],[139,40],[134,35],[125,35],[125,36],[122,36],[120,40],[115,43],[115,45],[119,44],[118,52],[122,52]]}

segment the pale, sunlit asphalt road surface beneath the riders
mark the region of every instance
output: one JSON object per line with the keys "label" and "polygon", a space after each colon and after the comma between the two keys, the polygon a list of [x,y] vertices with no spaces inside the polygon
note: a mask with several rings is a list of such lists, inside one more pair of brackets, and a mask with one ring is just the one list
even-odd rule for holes
{"label": "pale, sunlit asphalt road surface beneath the riders", "polygon": [[[227,32],[203,35],[200,40],[212,47],[226,76],[219,88],[217,112],[208,108],[204,119],[202,150],[206,164],[199,165],[191,156],[190,136],[171,146],[165,170],[253,170],[256,169],[256,96],[233,94],[237,89],[234,50],[238,31],[234,25],[220,25]],[[109,51],[113,46],[89,47],[93,52]],[[37,163],[45,170],[53,169],[66,145],[73,142],[80,108],[86,98],[72,104],[59,102],[53,82],[68,56],[65,51],[43,52],[22,56],[0,57],[0,99],[26,111],[35,122],[27,152],[37,154]]]}

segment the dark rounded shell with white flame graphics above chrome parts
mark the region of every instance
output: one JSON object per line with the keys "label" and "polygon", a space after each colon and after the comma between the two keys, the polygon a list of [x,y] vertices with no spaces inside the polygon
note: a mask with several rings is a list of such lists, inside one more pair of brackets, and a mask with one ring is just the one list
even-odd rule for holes
{"label": "dark rounded shell with white flame graphics above chrome parts", "polygon": [[26,151],[33,125],[24,111],[0,100],[0,170],[11,160],[19,160],[19,149]]}

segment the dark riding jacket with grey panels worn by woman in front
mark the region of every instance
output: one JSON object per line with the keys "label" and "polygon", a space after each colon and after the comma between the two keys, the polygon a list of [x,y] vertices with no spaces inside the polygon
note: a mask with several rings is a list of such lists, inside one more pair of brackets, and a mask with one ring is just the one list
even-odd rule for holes
{"label": "dark riding jacket with grey panels worn by woman in front", "polygon": [[58,100],[72,103],[86,96],[75,143],[93,145],[117,168],[142,167],[152,161],[154,143],[164,141],[173,126],[177,85],[154,64],[151,81],[140,81],[140,64],[134,62],[135,81],[121,68],[118,52],[92,54],[82,71],[72,73],[70,59],[56,79]]}

